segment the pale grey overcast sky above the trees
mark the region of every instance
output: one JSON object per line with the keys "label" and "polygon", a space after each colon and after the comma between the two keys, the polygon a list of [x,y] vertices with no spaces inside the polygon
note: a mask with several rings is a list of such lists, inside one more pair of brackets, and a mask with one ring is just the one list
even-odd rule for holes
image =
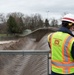
{"label": "pale grey overcast sky above the trees", "polygon": [[60,18],[64,12],[74,14],[74,0],[1,0],[0,13],[39,13],[43,18]]}

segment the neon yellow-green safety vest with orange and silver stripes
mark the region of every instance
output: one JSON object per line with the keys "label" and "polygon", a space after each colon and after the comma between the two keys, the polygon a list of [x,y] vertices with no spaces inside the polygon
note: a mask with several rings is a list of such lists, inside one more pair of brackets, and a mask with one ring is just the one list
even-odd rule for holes
{"label": "neon yellow-green safety vest with orange and silver stripes", "polygon": [[71,48],[74,37],[67,33],[55,32],[48,35],[51,46],[52,71],[59,74],[74,73],[74,59],[71,56]]}

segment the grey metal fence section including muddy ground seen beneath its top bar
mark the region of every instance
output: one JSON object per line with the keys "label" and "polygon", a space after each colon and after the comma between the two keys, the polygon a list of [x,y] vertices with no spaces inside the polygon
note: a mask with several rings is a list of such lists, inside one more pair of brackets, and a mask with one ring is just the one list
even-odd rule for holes
{"label": "grey metal fence section including muddy ground seen beneath its top bar", "polygon": [[0,50],[0,62],[0,75],[49,75],[47,50]]}

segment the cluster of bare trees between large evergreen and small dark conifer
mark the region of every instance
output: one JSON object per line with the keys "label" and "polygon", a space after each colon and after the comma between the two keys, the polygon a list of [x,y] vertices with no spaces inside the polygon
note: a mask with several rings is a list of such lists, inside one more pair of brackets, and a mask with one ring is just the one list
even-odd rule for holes
{"label": "cluster of bare trees between large evergreen and small dark conifer", "polygon": [[24,24],[26,28],[35,30],[37,28],[43,27],[43,20],[40,14],[35,14],[31,16],[26,16],[24,18]]}

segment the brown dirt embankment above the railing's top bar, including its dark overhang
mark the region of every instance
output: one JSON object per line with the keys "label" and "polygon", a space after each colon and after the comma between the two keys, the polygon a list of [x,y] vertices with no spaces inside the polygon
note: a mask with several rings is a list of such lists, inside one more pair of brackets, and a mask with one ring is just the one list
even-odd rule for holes
{"label": "brown dirt embankment above the railing's top bar, including its dark overhang", "polygon": [[[45,49],[47,47],[47,35],[51,32],[56,31],[57,28],[44,28],[35,30],[29,35],[21,36],[20,39],[18,39],[16,42],[11,42],[8,44],[4,44],[3,48],[4,50],[35,50],[35,49]],[[45,36],[46,35],[46,36]],[[44,37],[45,36],[45,37]],[[46,45],[44,45],[46,44]],[[2,45],[1,45],[2,47]],[[42,48],[43,47],[43,48]],[[48,48],[47,48],[48,49]]]}

